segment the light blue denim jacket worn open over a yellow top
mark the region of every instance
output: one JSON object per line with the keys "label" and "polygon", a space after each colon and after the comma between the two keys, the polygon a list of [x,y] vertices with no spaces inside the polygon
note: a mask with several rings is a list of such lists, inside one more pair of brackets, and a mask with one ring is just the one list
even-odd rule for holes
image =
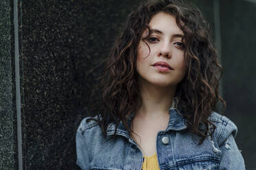
{"label": "light blue denim jacket worn open over a yellow top", "polygon": [[[167,129],[159,131],[156,150],[160,170],[242,170],[244,159],[235,143],[237,127],[228,118],[213,112],[209,120],[216,125],[213,136],[198,145],[198,136],[186,131],[186,121],[175,108],[169,109]],[[83,119],[76,133],[76,164],[81,169],[140,170],[142,151],[120,123],[107,127],[107,136],[96,121]],[[129,119],[130,121],[131,119]]]}

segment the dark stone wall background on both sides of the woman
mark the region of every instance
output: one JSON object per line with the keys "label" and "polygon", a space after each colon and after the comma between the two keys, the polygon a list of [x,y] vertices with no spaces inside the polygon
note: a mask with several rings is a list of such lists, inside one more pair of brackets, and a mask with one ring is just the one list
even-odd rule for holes
{"label": "dark stone wall background on both sides of the woman", "polygon": [[[224,115],[256,169],[256,1],[189,1],[211,25]],[[78,169],[75,134],[97,95],[98,63],[139,2],[0,1],[0,169]]]}

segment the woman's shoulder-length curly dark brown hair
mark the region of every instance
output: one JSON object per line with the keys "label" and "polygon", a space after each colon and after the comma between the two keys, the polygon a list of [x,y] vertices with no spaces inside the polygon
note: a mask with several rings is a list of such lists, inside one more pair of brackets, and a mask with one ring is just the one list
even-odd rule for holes
{"label": "woman's shoulder-length curly dark brown hair", "polygon": [[[186,119],[188,129],[202,137],[202,143],[215,130],[208,118],[217,102],[221,101],[223,108],[226,106],[218,91],[222,67],[217,61],[209,24],[193,4],[180,1],[147,1],[129,14],[125,30],[116,38],[110,56],[105,60],[105,70],[101,77],[102,102],[95,107],[99,111],[96,121],[103,134],[106,134],[109,123],[115,123],[117,127],[122,121],[132,137],[133,131],[127,117],[137,112],[142,105],[136,71],[138,44],[146,29],[149,34],[142,40],[150,36],[149,22],[158,12],[175,16],[178,27],[184,33],[182,42],[187,73],[176,89],[178,110]],[[201,125],[206,128],[200,128]]]}

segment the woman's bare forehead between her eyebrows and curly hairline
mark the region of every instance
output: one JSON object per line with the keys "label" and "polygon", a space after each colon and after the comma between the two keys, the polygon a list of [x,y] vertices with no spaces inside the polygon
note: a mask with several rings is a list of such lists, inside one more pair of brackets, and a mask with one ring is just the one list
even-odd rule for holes
{"label": "woman's bare forehead between her eyebrows and curly hairline", "polygon": [[182,30],[176,23],[175,16],[167,14],[166,12],[158,12],[157,14],[153,15],[151,21],[149,22],[149,27],[151,27],[151,29],[158,29],[167,34],[183,35]]}

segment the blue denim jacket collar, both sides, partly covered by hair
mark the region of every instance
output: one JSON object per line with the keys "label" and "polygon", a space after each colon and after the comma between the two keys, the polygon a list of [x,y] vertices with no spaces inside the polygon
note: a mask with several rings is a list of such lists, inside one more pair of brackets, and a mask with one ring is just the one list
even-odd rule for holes
{"label": "blue denim jacket collar, both sides, partly covered by hair", "polygon": [[[176,103],[174,102],[173,105],[169,108],[169,123],[167,125],[167,129],[164,132],[169,130],[180,131],[186,129],[186,120],[180,114],[180,111],[175,107]],[[134,117],[134,112],[127,118],[128,124],[131,125],[131,119]],[[115,123],[109,123],[107,127],[107,135],[113,135],[116,129]],[[119,123],[116,134],[125,136],[129,138],[129,132],[126,130],[122,122]]]}

